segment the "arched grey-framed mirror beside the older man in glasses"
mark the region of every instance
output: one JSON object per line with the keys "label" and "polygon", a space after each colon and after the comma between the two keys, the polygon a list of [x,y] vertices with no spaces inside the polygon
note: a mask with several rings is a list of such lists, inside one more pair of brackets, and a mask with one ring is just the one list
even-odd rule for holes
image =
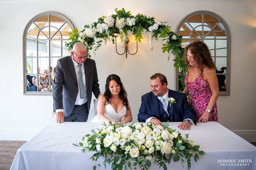
{"label": "arched grey-framed mirror beside the older man in glasses", "polygon": [[57,60],[65,56],[74,28],[57,12],[43,12],[28,22],[23,33],[24,94],[51,95]]}

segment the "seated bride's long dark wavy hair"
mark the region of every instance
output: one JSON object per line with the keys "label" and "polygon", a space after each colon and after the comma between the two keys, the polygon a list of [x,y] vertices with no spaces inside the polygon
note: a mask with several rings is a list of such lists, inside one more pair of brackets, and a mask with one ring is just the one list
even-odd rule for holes
{"label": "seated bride's long dark wavy hair", "polygon": [[125,91],[125,87],[123,87],[123,83],[121,82],[121,79],[118,75],[115,74],[111,74],[108,76],[107,80],[106,80],[106,85],[105,85],[105,92],[104,92],[104,96],[106,98],[106,104],[111,104],[111,101],[109,100],[112,97],[112,94],[109,90],[109,82],[111,80],[115,80],[115,82],[117,84],[119,84],[120,86],[120,92],[119,92],[119,98],[123,101],[123,105],[126,107],[127,110],[130,109],[129,107],[129,103],[128,103],[128,99],[127,99],[127,93]]}

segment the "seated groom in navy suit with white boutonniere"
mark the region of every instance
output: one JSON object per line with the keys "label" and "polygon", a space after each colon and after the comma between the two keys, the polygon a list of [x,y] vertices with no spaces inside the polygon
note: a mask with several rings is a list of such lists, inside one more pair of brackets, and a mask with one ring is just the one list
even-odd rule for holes
{"label": "seated groom in navy suit with white boutonniere", "polygon": [[[196,124],[196,113],[187,102],[184,93],[167,88],[167,79],[161,73],[150,77],[151,92],[141,97],[141,106],[138,113],[139,122],[151,122],[162,125],[162,122],[181,122],[181,130],[190,130]],[[168,98],[174,98],[172,103]]]}

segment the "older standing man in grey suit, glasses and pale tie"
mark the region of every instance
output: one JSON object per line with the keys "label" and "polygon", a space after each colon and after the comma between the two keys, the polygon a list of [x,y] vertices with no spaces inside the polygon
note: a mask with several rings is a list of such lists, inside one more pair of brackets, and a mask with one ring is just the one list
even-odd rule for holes
{"label": "older standing man in grey suit, glasses and pale tie", "polygon": [[56,122],[87,121],[92,92],[100,94],[95,61],[87,58],[82,43],[73,45],[71,56],[57,62],[53,81],[53,104]]}

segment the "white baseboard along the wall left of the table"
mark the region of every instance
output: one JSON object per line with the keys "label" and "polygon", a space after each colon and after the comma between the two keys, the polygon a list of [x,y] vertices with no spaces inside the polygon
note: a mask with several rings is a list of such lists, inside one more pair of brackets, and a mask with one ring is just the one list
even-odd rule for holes
{"label": "white baseboard along the wall left of the table", "polygon": [[22,140],[32,139],[38,130],[18,130],[18,129],[0,129],[0,140]]}

